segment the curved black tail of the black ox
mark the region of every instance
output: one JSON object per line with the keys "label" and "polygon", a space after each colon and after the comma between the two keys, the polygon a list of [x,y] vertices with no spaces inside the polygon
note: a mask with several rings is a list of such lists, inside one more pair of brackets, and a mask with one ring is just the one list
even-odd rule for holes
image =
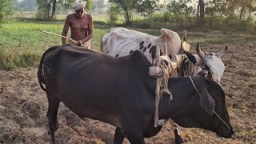
{"label": "curved black tail of the black ox", "polygon": [[40,60],[39,66],[38,66],[38,82],[40,87],[42,88],[42,90],[46,91],[46,87],[44,87],[42,84],[45,84],[45,76],[43,73],[43,62],[44,62],[44,58],[46,57],[46,54],[49,54],[50,52],[56,50],[58,48],[58,46],[53,46],[50,47],[48,50],[46,50],[46,52],[44,54],[42,54],[42,58]]}

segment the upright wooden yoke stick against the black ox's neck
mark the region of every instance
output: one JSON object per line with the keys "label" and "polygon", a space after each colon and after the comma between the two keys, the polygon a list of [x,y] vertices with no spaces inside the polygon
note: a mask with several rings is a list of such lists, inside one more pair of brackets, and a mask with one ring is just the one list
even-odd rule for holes
{"label": "upright wooden yoke stick against the black ox's neck", "polygon": [[[156,44],[155,66],[160,67],[160,45],[158,43]],[[159,101],[160,101],[160,78],[156,78],[155,101],[154,101],[154,127],[158,127]]]}

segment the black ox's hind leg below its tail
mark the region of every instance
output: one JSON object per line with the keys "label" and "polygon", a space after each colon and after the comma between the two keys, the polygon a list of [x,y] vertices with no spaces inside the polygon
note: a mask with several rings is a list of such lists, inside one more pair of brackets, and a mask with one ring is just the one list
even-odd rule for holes
{"label": "black ox's hind leg below its tail", "polygon": [[48,97],[48,101],[49,101],[49,106],[48,106],[46,117],[48,118],[51,142],[52,144],[55,144],[56,142],[55,142],[54,132],[58,130],[57,114],[58,114],[59,101],[52,99],[50,97]]}

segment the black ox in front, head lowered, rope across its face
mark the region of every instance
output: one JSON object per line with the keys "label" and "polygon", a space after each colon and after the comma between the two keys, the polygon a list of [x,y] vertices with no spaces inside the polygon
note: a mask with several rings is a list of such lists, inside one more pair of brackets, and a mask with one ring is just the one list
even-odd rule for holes
{"label": "black ox in front, head lowered, rope across its face", "polygon": [[[58,129],[59,102],[82,118],[117,126],[114,143],[122,143],[123,138],[130,143],[145,143],[144,138],[158,134],[162,126],[154,127],[155,79],[149,76],[150,65],[139,51],[111,58],[70,45],[46,50],[39,64],[38,81],[49,102],[46,115],[52,143]],[[211,130],[224,138],[234,134],[225,93],[210,73],[199,73],[191,79],[170,78],[169,88],[174,101],[163,96],[159,118],[171,118],[179,126]]]}

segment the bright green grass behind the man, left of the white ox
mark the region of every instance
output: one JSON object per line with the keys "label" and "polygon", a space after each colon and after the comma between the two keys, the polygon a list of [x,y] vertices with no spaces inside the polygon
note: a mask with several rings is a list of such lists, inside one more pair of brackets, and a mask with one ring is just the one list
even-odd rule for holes
{"label": "bright green grass behind the man, left of the white ox", "polygon": [[[40,30],[61,34],[62,28],[63,22],[10,20],[3,23],[0,28],[0,70],[37,66],[45,50],[50,46],[62,45],[61,38]],[[100,39],[109,29],[94,26],[94,38],[91,40],[93,49],[100,49]]]}

